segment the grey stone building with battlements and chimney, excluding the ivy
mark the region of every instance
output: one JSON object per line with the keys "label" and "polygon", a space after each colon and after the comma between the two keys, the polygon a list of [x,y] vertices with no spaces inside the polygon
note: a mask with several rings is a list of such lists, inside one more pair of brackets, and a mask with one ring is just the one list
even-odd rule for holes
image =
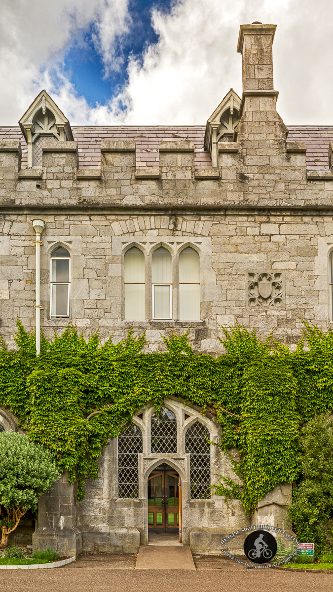
{"label": "grey stone building with battlements and chimney, excluding the ivy", "polygon": [[[242,96],[230,89],[206,126],[71,127],[42,91],[20,127],[0,128],[1,334],[9,348],[17,316],[25,327],[36,322],[36,217],[45,221],[47,336],[69,320],[86,336],[98,329],[114,340],[133,326],[153,352],[164,349],[161,334],[189,329],[196,352],[220,355],[221,325],[274,330],[293,345],[300,319],[331,323],[333,127],[281,120],[275,32],[241,25]],[[172,398],[160,419],[154,413],[140,410],[105,448],[81,504],[66,475],[41,499],[34,545],[137,551],[149,530],[178,532],[181,521],[183,543],[212,551],[221,533],[248,525],[238,502],[228,507],[210,494],[215,475],[230,474],[219,449],[207,449],[205,435],[219,436],[214,417]],[[15,429],[6,410],[0,429]],[[252,523],[281,525],[290,496],[290,485],[272,491]]]}

